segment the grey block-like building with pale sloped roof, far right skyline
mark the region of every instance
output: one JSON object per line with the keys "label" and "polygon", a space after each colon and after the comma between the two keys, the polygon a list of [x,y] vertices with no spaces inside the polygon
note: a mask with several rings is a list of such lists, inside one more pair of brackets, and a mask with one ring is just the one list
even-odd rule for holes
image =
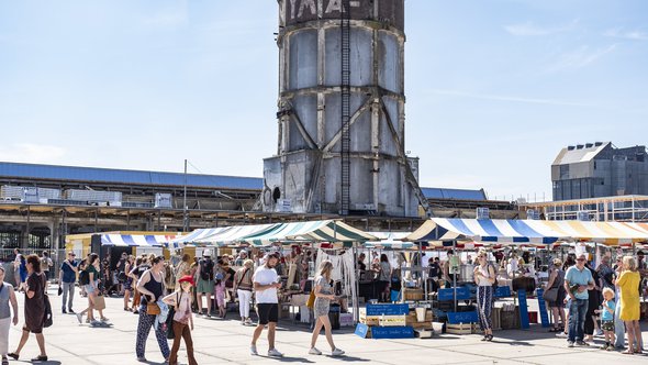
{"label": "grey block-like building with pale sloped roof, far right skyline", "polygon": [[611,142],[568,146],[551,164],[554,200],[648,195],[646,146]]}

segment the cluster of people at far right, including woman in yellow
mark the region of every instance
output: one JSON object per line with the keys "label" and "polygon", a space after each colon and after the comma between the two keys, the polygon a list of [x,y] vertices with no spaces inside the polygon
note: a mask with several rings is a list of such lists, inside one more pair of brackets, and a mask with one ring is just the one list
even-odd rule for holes
{"label": "cluster of people at far right, including woman in yellow", "polygon": [[[554,327],[550,331],[567,338],[569,347],[590,346],[594,335],[603,335],[602,350],[624,350],[624,354],[644,352],[639,329],[643,256],[618,256],[611,265],[603,256],[593,268],[585,254],[554,259],[545,289],[557,296],[549,301]],[[566,314],[567,309],[567,314]],[[599,324],[600,322],[600,324]]]}

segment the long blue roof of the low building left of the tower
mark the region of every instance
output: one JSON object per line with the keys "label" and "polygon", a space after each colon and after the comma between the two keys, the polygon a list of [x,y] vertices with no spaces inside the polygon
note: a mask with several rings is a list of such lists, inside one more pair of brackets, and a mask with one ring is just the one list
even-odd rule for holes
{"label": "long blue roof of the low building left of the tower", "polygon": [[[16,164],[0,162],[0,176],[90,182],[183,186],[185,174],[142,172],[98,167]],[[256,177],[187,174],[187,186],[260,190],[264,180]]]}

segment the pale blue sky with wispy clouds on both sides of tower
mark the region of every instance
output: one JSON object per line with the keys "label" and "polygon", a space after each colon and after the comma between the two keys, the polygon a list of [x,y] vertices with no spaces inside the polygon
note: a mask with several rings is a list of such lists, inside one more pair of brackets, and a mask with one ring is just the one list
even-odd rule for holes
{"label": "pale blue sky with wispy clouds on both sides of tower", "polygon": [[[646,144],[648,2],[406,0],[423,186],[550,197],[568,144]],[[0,2],[0,161],[258,176],[275,0]]]}

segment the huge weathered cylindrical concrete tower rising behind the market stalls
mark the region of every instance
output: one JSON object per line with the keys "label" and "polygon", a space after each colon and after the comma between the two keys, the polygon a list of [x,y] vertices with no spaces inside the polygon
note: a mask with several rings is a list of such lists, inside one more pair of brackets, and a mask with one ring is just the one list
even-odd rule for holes
{"label": "huge weathered cylindrical concrete tower rising behind the market stalls", "polygon": [[279,134],[265,211],[417,214],[403,0],[278,0]]}

